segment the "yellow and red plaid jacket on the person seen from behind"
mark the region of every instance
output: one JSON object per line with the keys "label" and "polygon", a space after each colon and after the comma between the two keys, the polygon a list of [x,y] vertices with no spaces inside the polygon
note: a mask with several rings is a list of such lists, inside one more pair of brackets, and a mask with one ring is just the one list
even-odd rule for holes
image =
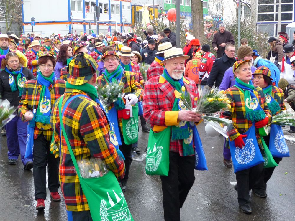
{"label": "yellow and red plaid jacket on the person seen from behind", "polygon": [[[66,88],[63,107],[69,98],[78,94],[88,96],[81,90]],[[60,134],[59,101],[60,98],[53,105],[50,121],[55,143],[57,146],[60,144],[60,187],[67,210],[76,212],[89,210],[65,138]],[[75,98],[65,109],[63,123],[76,160],[100,158],[116,177],[124,177],[124,161],[109,141],[109,124],[97,103],[91,98]]]}

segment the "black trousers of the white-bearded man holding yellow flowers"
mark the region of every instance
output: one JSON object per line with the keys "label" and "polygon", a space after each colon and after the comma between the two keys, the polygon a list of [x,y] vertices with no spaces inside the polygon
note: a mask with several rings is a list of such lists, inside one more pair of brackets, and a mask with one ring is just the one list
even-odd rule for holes
{"label": "black trousers of the white-bearded man holding yellow flowers", "polygon": [[179,156],[179,153],[170,152],[169,157],[168,176],[160,176],[164,218],[165,221],[180,221],[180,208],[195,180],[195,156]]}

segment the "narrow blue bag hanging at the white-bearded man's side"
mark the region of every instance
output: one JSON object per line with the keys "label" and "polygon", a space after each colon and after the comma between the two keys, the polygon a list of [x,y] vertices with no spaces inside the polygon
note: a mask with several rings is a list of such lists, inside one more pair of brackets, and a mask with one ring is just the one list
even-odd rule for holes
{"label": "narrow blue bag hanging at the white-bearded man's side", "polygon": [[196,126],[193,126],[193,139],[195,146],[195,169],[196,170],[208,170],[207,160],[203,148],[201,138],[199,136]]}

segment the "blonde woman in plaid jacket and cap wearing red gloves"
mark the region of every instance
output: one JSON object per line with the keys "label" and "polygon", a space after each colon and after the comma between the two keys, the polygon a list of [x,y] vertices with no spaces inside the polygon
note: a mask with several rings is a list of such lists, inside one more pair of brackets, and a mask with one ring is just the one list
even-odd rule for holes
{"label": "blonde woman in plaid jacket and cap wearing red gloves", "polygon": [[[221,114],[222,118],[232,120],[233,129],[230,131],[229,139],[235,142],[236,147],[243,148],[245,143],[242,138],[255,121],[255,133],[260,151],[262,144],[258,128],[266,126],[271,122],[271,111],[268,109],[264,93],[258,86],[250,85],[252,78],[251,61],[238,60],[233,66],[235,85],[224,91],[231,102],[231,109]],[[254,138],[255,139],[255,138]],[[239,207],[242,212],[250,214],[249,190],[254,187],[257,179],[262,175],[263,163],[249,169],[236,172]]]}

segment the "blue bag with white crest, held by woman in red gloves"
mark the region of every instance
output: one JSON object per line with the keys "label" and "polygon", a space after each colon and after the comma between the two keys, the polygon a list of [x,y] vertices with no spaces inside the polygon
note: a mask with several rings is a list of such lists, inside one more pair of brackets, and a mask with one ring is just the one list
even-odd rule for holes
{"label": "blue bag with white crest, held by woman in red gloves", "polygon": [[232,155],[232,164],[235,173],[264,162],[255,134],[255,123],[253,122],[250,129],[243,134],[247,135],[247,137],[243,138],[245,142],[243,148],[236,147],[235,141],[229,141],[230,154]]}

